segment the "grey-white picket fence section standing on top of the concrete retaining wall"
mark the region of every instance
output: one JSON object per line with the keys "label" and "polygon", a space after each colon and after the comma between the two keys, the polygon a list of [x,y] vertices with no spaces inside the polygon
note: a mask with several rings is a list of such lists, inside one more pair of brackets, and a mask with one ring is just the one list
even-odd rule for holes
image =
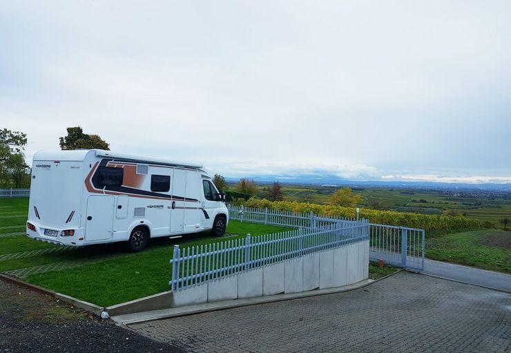
{"label": "grey-white picket fence section standing on top of the concrete retaining wall", "polygon": [[290,260],[319,251],[343,247],[369,240],[369,221],[332,222],[316,228],[244,239],[226,240],[209,245],[174,246],[172,278],[173,292],[195,287],[210,280],[232,276],[273,263]]}

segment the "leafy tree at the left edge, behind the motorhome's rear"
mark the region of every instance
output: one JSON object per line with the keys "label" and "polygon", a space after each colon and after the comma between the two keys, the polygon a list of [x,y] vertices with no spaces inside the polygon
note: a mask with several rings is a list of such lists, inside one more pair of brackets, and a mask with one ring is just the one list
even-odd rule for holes
{"label": "leafy tree at the left edge, behind the motorhome's rear", "polygon": [[0,187],[23,188],[30,185],[23,149],[27,136],[20,131],[0,130]]}

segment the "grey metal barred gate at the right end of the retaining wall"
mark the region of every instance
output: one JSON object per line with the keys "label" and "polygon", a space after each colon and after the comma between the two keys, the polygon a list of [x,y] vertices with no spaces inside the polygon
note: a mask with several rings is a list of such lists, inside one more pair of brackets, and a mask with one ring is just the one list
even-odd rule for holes
{"label": "grey metal barred gate at the right end of the retaining wall", "polygon": [[423,271],[424,229],[370,225],[369,259],[390,265]]}

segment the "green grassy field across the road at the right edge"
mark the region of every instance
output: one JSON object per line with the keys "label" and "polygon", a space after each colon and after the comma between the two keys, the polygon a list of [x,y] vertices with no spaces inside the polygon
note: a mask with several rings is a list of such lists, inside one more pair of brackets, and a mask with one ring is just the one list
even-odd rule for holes
{"label": "green grassy field across the road at the right edge", "polygon": [[511,232],[485,229],[426,238],[426,256],[510,274]]}

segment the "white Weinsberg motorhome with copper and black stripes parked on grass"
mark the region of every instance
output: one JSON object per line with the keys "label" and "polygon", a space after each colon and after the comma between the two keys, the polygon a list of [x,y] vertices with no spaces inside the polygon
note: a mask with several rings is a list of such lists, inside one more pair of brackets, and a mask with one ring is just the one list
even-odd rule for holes
{"label": "white Weinsberg motorhome with copper and black stripes parked on grass", "polygon": [[229,213],[197,164],[102,150],[34,155],[27,235],[81,247],[209,230],[222,236]]}

